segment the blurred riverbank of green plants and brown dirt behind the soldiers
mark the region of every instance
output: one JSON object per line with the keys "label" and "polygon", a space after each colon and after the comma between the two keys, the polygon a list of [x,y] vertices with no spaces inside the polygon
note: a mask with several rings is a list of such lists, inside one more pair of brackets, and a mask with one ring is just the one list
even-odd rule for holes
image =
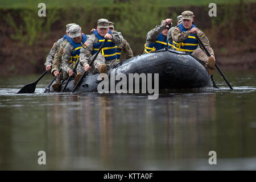
{"label": "blurred riverbank of green plants and brown dirt behind the soldiers", "polygon": [[[46,17],[38,16],[40,2],[46,3]],[[217,5],[216,17],[208,15],[210,2]],[[100,18],[114,22],[134,55],[139,55],[147,32],[166,18],[172,18],[175,26],[176,16],[184,10],[194,12],[195,24],[207,34],[219,65],[227,69],[255,69],[256,0],[12,0],[0,5],[0,75],[42,72],[52,44],[65,34],[65,24],[77,23],[82,32],[90,34]]]}

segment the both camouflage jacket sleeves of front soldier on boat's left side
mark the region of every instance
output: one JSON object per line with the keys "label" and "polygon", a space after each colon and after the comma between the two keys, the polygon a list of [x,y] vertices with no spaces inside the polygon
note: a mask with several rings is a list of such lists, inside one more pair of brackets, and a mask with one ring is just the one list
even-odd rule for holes
{"label": "both camouflage jacket sleeves of front soldier on boat's left side", "polygon": [[[119,46],[123,42],[123,36],[117,32],[117,31],[112,31],[112,40],[113,43],[117,44]],[[89,64],[89,56],[92,55],[93,53],[93,45],[97,44],[98,38],[96,37],[95,34],[92,34],[89,39],[86,40],[84,43],[84,47],[81,48],[80,50],[80,64],[84,67],[85,64]]]}

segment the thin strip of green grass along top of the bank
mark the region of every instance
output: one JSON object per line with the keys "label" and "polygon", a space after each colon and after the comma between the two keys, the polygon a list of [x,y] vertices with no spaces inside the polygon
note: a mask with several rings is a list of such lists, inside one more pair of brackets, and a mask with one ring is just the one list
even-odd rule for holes
{"label": "thin strip of green grass along top of the bank", "polygon": [[[67,7],[81,7],[86,5],[113,5],[117,1],[130,1],[130,0],[1,0],[0,9],[26,9],[38,8],[38,4],[43,2],[49,8],[67,8]],[[140,0],[137,0],[140,1]],[[216,5],[223,5],[227,3],[237,4],[241,0],[157,0],[156,5],[167,7],[177,6],[208,6],[209,3],[216,3]],[[251,3],[256,0],[243,0],[243,2]]]}

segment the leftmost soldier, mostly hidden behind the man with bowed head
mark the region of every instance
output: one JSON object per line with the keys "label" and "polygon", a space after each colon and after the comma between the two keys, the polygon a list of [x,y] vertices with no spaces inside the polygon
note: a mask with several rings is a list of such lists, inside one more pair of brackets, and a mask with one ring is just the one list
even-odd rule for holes
{"label": "leftmost soldier, mostly hidden behind the man with bowed head", "polygon": [[73,24],[75,23],[69,23],[66,25],[66,35],[64,35],[63,38],[57,40],[57,42],[53,43],[53,46],[51,48],[51,51],[48,53],[47,57],[46,57],[46,63],[44,63],[44,65],[46,66],[46,71],[49,72],[51,70],[52,67],[52,62],[53,62],[53,57],[57,51],[57,49],[59,48],[60,44],[63,42],[64,38],[66,38],[66,36],[68,35],[68,28],[71,27]]}

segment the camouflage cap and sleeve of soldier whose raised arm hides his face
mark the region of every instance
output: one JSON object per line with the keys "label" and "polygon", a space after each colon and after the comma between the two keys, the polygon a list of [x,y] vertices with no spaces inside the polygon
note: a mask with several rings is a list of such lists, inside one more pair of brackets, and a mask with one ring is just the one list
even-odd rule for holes
{"label": "camouflage cap and sleeve of soldier whose raised arm hides his face", "polygon": [[[151,31],[149,31],[146,35],[146,44],[144,45],[144,47],[148,47],[148,45],[150,43],[154,43],[156,41],[156,39],[158,38],[158,35],[161,34],[161,32],[164,30],[164,28],[169,27],[169,25],[167,24],[166,26],[164,26],[164,21],[162,20],[160,25],[156,25],[156,27],[154,29],[152,29]],[[169,27],[170,28],[170,27]],[[167,45],[168,47],[168,45]],[[146,53],[145,49],[143,54]]]}

